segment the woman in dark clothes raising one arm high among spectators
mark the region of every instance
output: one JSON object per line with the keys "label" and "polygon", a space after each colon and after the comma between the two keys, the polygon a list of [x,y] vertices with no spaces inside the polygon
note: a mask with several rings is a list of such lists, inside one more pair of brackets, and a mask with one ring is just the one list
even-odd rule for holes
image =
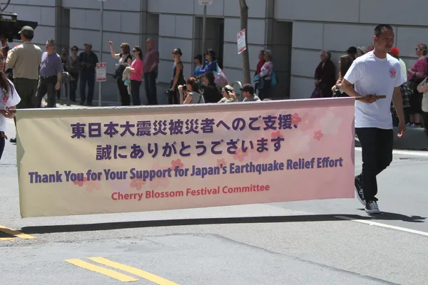
{"label": "woman in dark clothes raising one arm high among spectators", "polygon": [[119,60],[114,77],[116,78],[119,94],[121,95],[121,105],[131,105],[131,96],[128,93],[128,87],[122,80],[123,71],[125,71],[126,67],[131,66],[132,63],[131,48],[128,43],[122,43],[121,53],[116,53],[113,48],[113,41],[109,41],[108,44],[110,45],[111,56]]}

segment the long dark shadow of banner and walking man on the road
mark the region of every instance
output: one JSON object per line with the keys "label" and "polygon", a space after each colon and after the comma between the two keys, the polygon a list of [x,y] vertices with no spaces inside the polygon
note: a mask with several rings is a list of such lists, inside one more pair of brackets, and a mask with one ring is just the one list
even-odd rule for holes
{"label": "long dark shadow of banner and walking man on the road", "polygon": [[[177,227],[201,224],[256,224],[256,223],[280,223],[280,222],[334,222],[344,221],[337,216],[345,216],[350,219],[388,219],[416,222],[416,218],[407,217],[402,214],[386,213],[376,217],[362,217],[356,214],[308,214],[296,216],[274,216],[274,217],[230,217],[230,218],[207,218],[207,219],[164,219],[158,221],[136,221],[136,222],[109,222],[99,224],[66,224],[58,226],[36,226],[23,227],[22,232],[26,234],[51,234],[56,232],[91,232],[105,231],[111,229],[133,229],[144,227]],[[422,222],[422,221],[419,221]]]}

